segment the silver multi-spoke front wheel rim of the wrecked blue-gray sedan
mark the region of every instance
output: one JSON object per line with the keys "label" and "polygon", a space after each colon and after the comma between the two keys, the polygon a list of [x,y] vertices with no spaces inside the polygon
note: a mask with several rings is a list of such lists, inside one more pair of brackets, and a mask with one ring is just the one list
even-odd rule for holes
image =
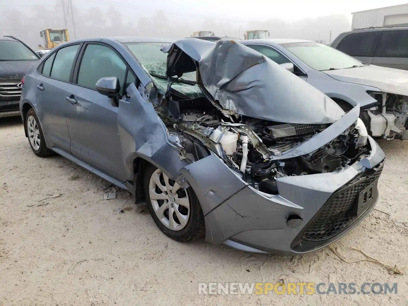
{"label": "silver multi-spoke front wheel rim of the wrecked blue-gray sedan", "polygon": [[156,169],[149,182],[149,197],[157,218],[172,231],[182,230],[190,217],[190,199],[185,189]]}

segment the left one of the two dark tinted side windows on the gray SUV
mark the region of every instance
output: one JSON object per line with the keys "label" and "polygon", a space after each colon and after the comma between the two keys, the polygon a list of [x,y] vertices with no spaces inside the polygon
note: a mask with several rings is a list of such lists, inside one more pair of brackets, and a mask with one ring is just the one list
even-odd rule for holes
{"label": "left one of the two dark tinted side windows on the gray SUV", "polygon": [[350,56],[374,56],[381,31],[348,34],[336,49]]}

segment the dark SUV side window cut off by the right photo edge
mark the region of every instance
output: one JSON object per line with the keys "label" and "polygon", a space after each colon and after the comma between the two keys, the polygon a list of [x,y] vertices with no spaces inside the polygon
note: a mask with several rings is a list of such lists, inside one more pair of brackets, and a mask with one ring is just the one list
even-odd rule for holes
{"label": "dark SUV side window cut off by the right photo edge", "polygon": [[408,31],[383,31],[375,57],[408,58]]}

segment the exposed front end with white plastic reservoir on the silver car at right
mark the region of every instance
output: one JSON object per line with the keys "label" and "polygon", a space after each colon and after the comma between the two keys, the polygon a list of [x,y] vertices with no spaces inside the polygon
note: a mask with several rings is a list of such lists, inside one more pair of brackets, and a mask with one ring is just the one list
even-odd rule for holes
{"label": "exposed front end with white plastic reservoir on the silver car at right", "polygon": [[377,102],[361,111],[369,135],[387,140],[408,139],[408,96],[371,92]]}

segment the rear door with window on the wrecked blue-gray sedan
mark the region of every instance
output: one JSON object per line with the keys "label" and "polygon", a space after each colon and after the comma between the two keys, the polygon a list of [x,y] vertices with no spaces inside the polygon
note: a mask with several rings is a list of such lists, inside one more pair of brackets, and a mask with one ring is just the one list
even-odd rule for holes
{"label": "rear door with window on the wrecked blue-gray sedan", "polygon": [[81,44],[58,49],[40,65],[36,78],[36,94],[42,129],[53,145],[69,152],[71,139],[68,133],[66,89],[72,80],[73,63]]}

